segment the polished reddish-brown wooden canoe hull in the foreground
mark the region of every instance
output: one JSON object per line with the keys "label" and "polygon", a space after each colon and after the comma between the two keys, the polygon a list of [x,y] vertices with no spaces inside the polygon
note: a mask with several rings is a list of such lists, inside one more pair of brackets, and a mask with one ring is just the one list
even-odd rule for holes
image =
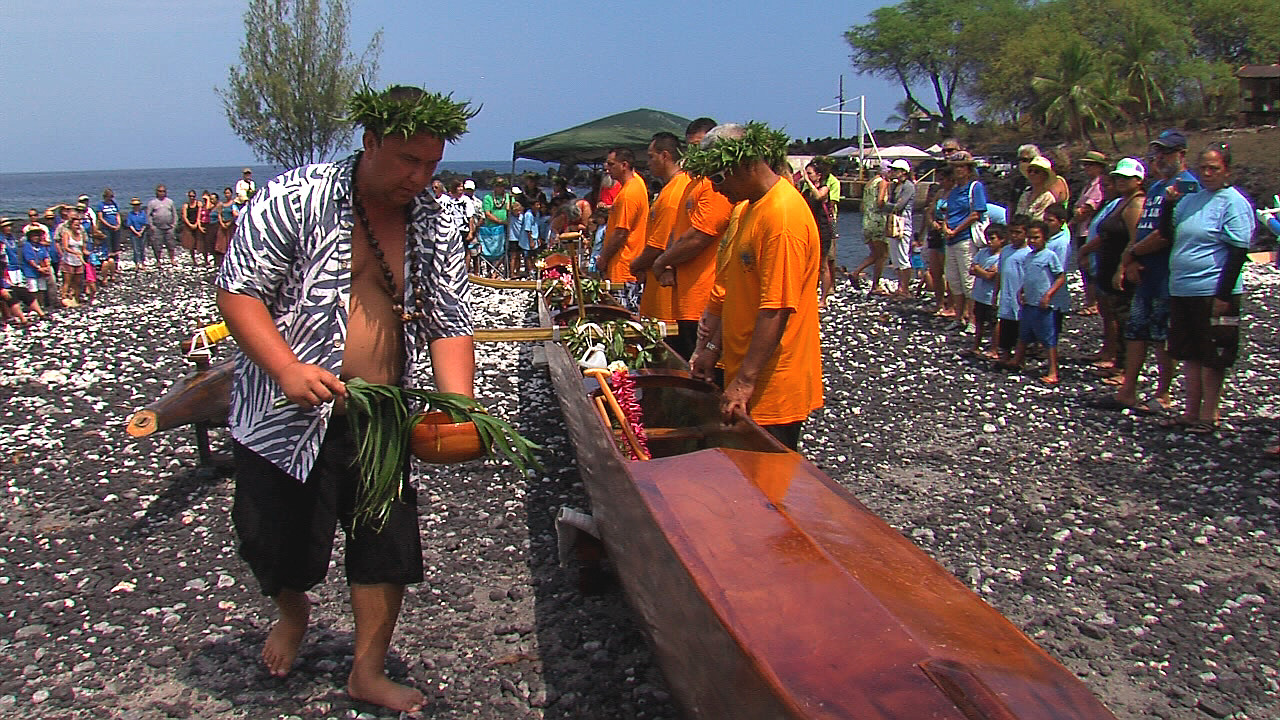
{"label": "polished reddish-brown wooden canoe hull in the foreground", "polygon": [[648,461],[620,450],[564,347],[545,355],[602,541],[689,717],[1114,720],[822,470],[750,420],[721,424],[675,354],[634,374]]}

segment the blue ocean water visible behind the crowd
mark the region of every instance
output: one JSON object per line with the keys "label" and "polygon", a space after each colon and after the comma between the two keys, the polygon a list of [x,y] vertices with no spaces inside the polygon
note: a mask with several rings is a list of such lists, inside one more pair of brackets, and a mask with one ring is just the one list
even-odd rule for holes
{"label": "blue ocean water visible behind the crowd", "polygon": [[[270,181],[283,168],[275,165],[250,165],[253,179],[261,186]],[[545,173],[548,165],[532,160],[518,160],[516,172]],[[0,173],[0,217],[26,219],[27,208],[45,208],[59,202],[74,204],[79,195],[88,195],[96,206],[102,200],[102,188],[115,192],[115,202],[127,210],[131,197],[143,202],[155,197],[156,184],[169,188],[169,196],[182,202],[188,190],[204,192],[211,190],[221,195],[224,187],[234,186],[243,167],[215,168],[161,168],[141,170],[78,170],[61,173]],[[460,174],[477,170],[511,172],[511,160],[445,160],[440,170]],[[549,190],[549,188],[548,188]],[[581,195],[582,191],[577,190]],[[485,195],[484,191],[480,195]],[[867,258],[863,245],[863,218],[860,213],[841,211],[836,219],[836,232],[840,233],[836,250],[836,264],[854,269]]]}

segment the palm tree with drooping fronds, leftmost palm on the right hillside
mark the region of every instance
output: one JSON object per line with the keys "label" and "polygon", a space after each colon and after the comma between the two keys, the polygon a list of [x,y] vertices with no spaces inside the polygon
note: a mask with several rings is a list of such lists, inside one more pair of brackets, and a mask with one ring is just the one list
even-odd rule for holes
{"label": "palm tree with drooping fronds, leftmost palm on the right hillside", "polygon": [[1075,40],[1062,47],[1052,72],[1032,78],[1032,90],[1043,106],[1044,123],[1065,120],[1073,138],[1087,140],[1091,147],[1097,147],[1089,126],[1108,128],[1107,118],[1116,111],[1100,91],[1103,70],[1097,55],[1082,41]]}

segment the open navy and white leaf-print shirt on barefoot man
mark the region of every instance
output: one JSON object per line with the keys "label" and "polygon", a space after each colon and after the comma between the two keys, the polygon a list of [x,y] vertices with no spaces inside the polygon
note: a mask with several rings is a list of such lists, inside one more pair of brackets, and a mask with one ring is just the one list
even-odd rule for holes
{"label": "open navy and white leaf-print shirt on barefoot man", "polygon": [[[358,155],[279,176],[253,195],[241,215],[218,273],[218,287],[261,300],[284,342],[302,363],[342,370],[351,302],[351,179]],[[424,277],[406,282],[424,291],[424,318],[404,327],[402,382],[428,363],[421,338],[472,334],[463,223],[429,192],[413,199],[406,231],[404,277],[417,256]],[[315,410],[274,407],[280,387],[244,355],[232,384],[232,437],[298,480],[306,480],[324,441],[333,404]]]}

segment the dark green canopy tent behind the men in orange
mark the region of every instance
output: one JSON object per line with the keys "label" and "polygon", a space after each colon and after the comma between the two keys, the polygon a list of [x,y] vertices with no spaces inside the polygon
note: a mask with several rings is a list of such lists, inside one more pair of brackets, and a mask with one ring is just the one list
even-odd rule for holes
{"label": "dark green canopy tent behind the men in orange", "polygon": [[517,159],[561,164],[599,164],[614,147],[630,147],[636,163],[644,164],[645,150],[654,133],[667,131],[685,137],[689,119],[640,108],[591,120],[568,129],[517,141],[512,149],[512,165]]}

